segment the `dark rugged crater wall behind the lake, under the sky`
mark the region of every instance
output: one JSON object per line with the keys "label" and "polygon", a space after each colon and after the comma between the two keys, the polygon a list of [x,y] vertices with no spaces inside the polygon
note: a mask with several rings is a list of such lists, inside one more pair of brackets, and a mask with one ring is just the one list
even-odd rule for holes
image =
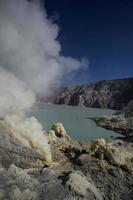
{"label": "dark rugged crater wall behind the lake, under the sky", "polygon": [[132,94],[133,78],[128,78],[65,87],[45,100],[56,104],[120,110],[133,99]]}

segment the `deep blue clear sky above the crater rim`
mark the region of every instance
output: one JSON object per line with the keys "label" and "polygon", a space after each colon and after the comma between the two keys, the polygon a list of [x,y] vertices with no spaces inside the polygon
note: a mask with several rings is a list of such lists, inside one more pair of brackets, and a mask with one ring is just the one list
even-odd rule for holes
{"label": "deep blue clear sky above the crater rim", "polygon": [[133,76],[132,0],[45,0],[45,7],[59,25],[61,53],[89,60],[64,84]]}

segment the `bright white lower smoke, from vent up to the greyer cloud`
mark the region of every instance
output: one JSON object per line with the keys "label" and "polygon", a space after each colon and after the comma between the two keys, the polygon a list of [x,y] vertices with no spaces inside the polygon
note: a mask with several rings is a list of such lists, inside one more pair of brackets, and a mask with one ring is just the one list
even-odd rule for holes
{"label": "bright white lower smoke, from vent up to the greyer cloud", "polygon": [[51,161],[48,138],[36,118],[27,118],[25,113],[35,102],[35,95],[14,74],[0,68],[0,125],[8,128],[13,137],[35,149],[47,161]]}

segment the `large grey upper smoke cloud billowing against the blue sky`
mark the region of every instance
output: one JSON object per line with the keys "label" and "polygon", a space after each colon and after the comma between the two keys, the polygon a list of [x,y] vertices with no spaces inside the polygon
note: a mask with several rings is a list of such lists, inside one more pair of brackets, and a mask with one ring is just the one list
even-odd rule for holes
{"label": "large grey upper smoke cloud billowing against the blue sky", "polygon": [[64,72],[86,64],[60,56],[59,28],[36,1],[0,0],[0,63],[34,92],[47,94]]}

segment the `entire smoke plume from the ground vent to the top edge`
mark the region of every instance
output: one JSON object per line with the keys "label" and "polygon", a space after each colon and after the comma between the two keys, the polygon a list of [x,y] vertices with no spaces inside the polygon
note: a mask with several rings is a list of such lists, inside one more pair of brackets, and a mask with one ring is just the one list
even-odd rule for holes
{"label": "entire smoke plume from the ground vent to the top edge", "polygon": [[38,2],[0,0],[0,117],[19,132],[18,139],[50,158],[42,126],[25,112],[36,94],[47,95],[64,73],[87,62],[60,55],[59,28]]}

